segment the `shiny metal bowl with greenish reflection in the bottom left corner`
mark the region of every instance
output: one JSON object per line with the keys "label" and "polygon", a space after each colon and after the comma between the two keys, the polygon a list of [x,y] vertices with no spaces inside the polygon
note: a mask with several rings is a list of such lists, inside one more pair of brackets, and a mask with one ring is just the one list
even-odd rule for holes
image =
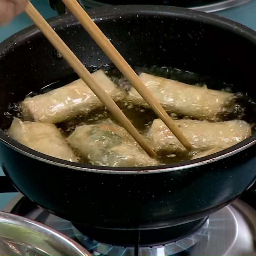
{"label": "shiny metal bowl with greenish reflection in the bottom left corner", "polygon": [[0,255],[91,255],[81,245],[33,220],[0,212]]}

